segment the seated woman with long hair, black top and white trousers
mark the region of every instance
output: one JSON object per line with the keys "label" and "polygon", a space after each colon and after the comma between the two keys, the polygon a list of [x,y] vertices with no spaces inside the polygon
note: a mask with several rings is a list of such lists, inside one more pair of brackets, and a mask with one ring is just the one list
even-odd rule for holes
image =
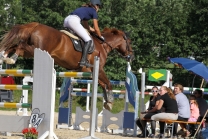
{"label": "seated woman with long hair, black top and white trousers", "polygon": [[[162,107],[165,112],[155,114],[151,117],[151,120],[176,120],[178,118],[178,105],[176,102],[175,95],[172,90],[166,86],[160,88],[160,100],[157,105],[157,110],[160,110]],[[164,122],[160,123],[160,138],[163,138],[164,135]]]}

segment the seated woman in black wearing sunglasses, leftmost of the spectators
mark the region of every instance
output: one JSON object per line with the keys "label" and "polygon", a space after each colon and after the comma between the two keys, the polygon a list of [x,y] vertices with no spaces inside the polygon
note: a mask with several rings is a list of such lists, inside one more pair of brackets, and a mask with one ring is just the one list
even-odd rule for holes
{"label": "seated woman in black wearing sunglasses, leftmost of the spectators", "polygon": [[[145,127],[146,127],[146,124],[147,124],[147,121],[146,120],[142,120],[142,119],[143,118],[150,119],[152,115],[157,114],[159,112],[156,109],[156,106],[159,104],[159,99],[160,99],[159,90],[158,90],[158,88],[156,86],[154,86],[152,88],[152,92],[153,92],[153,96],[150,97],[149,108],[145,112],[141,112],[140,118],[138,118],[136,120],[137,126],[142,131],[142,133],[138,135],[138,137],[140,137],[140,138],[144,138],[145,137],[145,130],[146,130]],[[152,134],[149,135],[149,138],[154,138],[154,136],[155,136],[155,128],[156,128],[156,122],[155,121],[151,121]],[[148,134],[149,134],[149,132],[146,130],[146,136],[148,136]]]}

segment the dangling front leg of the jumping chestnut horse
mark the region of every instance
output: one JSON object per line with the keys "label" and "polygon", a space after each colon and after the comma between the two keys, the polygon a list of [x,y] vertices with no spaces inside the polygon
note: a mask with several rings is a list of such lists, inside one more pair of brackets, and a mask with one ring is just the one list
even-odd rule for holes
{"label": "dangling front leg of the jumping chestnut horse", "polygon": [[99,73],[99,81],[98,82],[101,85],[101,87],[103,89],[103,93],[104,93],[103,94],[104,99],[105,99],[104,108],[107,110],[112,110],[113,101],[114,101],[112,85],[103,70],[101,70]]}

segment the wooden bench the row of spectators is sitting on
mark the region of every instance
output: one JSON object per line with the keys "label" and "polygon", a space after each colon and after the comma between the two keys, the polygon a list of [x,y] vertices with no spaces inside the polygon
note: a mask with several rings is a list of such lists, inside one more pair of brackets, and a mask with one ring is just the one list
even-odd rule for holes
{"label": "wooden bench the row of spectators is sitting on", "polygon": [[[145,119],[143,118],[142,120],[145,120],[147,122],[151,122],[151,119]],[[166,129],[169,129],[171,128],[171,138],[173,137],[173,127],[174,127],[174,123],[183,123],[183,124],[194,124],[194,125],[200,125],[201,122],[188,122],[188,121],[178,121],[178,120],[159,120],[160,122],[165,122],[165,127],[164,127],[164,133],[166,131]],[[146,128],[147,126],[145,127],[145,137],[146,137]]]}

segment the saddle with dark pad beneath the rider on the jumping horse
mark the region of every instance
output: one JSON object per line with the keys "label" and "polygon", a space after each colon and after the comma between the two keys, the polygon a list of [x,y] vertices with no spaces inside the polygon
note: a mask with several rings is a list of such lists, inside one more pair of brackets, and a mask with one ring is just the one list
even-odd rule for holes
{"label": "saddle with dark pad beneath the rider on the jumping horse", "polygon": [[[69,38],[71,39],[71,41],[73,43],[74,49],[76,51],[82,52],[82,48],[84,47],[84,44],[85,44],[85,42],[82,40],[82,38],[80,38],[74,31],[72,31],[69,28],[65,28],[65,30],[60,30],[60,32],[63,32],[64,34],[69,36]],[[92,39],[92,44],[88,50],[88,54],[91,54],[94,51],[94,49],[95,49],[95,45],[94,45],[94,42]]]}

